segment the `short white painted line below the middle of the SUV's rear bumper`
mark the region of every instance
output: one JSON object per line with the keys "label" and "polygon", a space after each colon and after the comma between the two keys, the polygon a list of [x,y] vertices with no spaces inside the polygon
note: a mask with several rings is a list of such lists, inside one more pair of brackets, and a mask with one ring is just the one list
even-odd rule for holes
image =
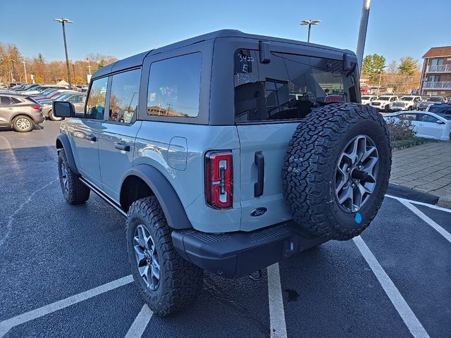
{"label": "short white painted line below the middle of the SUV's rear bumper", "polygon": [[268,300],[269,321],[271,323],[271,338],[286,338],[287,325],[283,310],[282,287],[278,263],[268,266]]}

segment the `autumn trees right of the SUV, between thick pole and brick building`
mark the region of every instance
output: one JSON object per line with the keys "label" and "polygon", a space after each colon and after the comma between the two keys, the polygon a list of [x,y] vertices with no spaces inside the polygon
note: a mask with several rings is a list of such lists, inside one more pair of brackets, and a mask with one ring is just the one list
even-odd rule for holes
{"label": "autumn trees right of the SUV, between thick pole and brick building", "polygon": [[396,93],[410,93],[419,89],[421,69],[412,56],[404,56],[387,65],[385,57],[375,53],[364,57],[361,78],[376,87],[380,84],[393,88]]}

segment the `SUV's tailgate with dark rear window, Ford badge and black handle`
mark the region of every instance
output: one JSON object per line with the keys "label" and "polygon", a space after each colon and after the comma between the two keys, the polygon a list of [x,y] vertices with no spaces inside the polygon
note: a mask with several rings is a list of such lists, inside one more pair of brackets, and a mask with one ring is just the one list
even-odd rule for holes
{"label": "SUV's tailgate with dark rear window, Ford badge and black handle", "polygon": [[357,101],[354,73],[340,59],[272,52],[261,63],[258,51],[235,52],[242,230],[290,220],[281,173],[293,132],[328,102]]}

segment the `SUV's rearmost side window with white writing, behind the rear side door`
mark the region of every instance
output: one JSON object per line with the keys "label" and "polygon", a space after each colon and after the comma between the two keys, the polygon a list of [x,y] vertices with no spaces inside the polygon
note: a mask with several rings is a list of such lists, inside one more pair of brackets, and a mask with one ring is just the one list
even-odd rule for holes
{"label": "SUV's rearmost side window with white writing, behind the rear side door", "polygon": [[202,54],[156,61],[150,66],[147,115],[195,118],[199,115]]}

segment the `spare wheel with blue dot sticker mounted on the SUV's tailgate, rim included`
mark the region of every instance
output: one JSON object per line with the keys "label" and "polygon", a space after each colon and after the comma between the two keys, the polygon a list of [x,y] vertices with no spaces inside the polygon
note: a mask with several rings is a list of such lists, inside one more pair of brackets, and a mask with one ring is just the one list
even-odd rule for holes
{"label": "spare wheel with blue dot sticker mounted on the SUV's tailgate, rim included", "polygon": [[362,233],[388,187],[391,146],[371,106],[330,104],[307,115],[288,145],[283,195],[299,226],[346,240]]}

